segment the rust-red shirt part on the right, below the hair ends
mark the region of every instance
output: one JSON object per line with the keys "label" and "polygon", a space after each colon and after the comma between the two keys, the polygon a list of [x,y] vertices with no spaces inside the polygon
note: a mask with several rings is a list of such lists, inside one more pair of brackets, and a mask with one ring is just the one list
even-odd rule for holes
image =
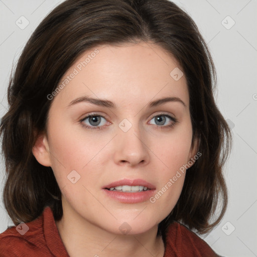
{"label": "rust-red shirt part on the right, below the hair ends", "polygon": [[220,257],[196,233],[179,222],[169,225],[166,233],[167,256]]}

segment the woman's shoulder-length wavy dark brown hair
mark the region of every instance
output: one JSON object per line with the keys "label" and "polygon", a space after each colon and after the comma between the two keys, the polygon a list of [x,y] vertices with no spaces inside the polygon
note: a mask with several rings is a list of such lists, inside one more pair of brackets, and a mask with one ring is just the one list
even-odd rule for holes
{"label": "woman's shoulder-length wavy dark brown hair", "polygon": [[[9,82],[10,108],[1,120],[0,135],[7,172],[4,204],[16,225],[37,218],[47,205],[56,220],[62,217],[53,171],[32,154],[37,133],[46,131],[51,106],[47,95],[89,48],[139,41],[158,44],[181,65],[190,96],[192,144],[199,138],[202,154],[188,169],[181,196],[159,224],[158,234],[164,236],[174,220],[200,233],[220,222],[227,206],[222,169],[231,135],[213,97],[213,61],[193,20],[168,0],[68,0],[37,27]],[[219,215],[210,222],[219,206]]]}

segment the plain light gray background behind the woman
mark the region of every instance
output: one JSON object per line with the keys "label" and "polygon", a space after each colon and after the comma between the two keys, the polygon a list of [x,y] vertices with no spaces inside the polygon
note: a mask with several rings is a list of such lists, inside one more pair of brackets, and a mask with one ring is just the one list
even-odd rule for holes
{"label": "plain light gray background behind the woman", "polygon": [[[1,116],[8,106],[6,92],[12,65],[16,64],[32,32],[61,2],[0,0]],[[225,119],[229,119],[233,132],[233,151],[224,171],[229,190],[228,210],[221,223],[202,238],[227,257],[257,256],[257,1],[174,2],[191,15],[208,43],[218,75],[217,104]],[[29,21],[26,28],[20,28],[27,22],[21,16]],[[4,172],[2,158],[1,192]],[[2,200],[1,197],[0,232],[12,224]]]}

